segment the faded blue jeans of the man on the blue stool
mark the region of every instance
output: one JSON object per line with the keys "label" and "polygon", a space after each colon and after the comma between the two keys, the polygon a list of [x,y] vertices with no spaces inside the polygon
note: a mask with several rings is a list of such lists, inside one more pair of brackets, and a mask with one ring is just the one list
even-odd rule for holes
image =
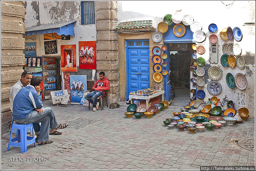
{"label": "faded blue jeans of the man on the blue stool", "polygon": [[55,129],[59,125],[54,116],[51,107],[42,107],[43,112],[32,111],[25,119],[15,119],[18,124],[41,123],[38,142],[46,142],[49,140],[49,128]]}

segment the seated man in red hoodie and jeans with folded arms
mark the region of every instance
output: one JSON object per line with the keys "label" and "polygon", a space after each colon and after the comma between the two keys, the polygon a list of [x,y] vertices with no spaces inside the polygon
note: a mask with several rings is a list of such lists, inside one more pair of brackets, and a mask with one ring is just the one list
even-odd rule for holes
{"label": "seated man in red hoodie and jeans with folded arms", "polygon": [[100,75],[100,79],[97,80],[96,83],[92,86],[92,89],[94,91],[90,92],[85,96],[86,100],[92,103],[93,111],[96,111],[99,108],[99,103],[97,103],[97,98],[102,95],[102,91],[110,89],[109,81],[107,77],[104,77],[105,73],[101,71],[99,75]]}

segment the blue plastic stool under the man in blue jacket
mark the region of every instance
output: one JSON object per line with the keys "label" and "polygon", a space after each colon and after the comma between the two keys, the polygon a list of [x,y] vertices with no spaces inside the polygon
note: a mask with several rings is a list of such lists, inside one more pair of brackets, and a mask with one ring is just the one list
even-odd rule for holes
{"label": "blue plastic stool under the man in blue jacket", "polygon": [[[27,136],[27,130],[30,128],[30,133],[32,132],[32,137]],[[31,129],[32,128],[32,129]],[[16,129],[16,137],[12,139],[13,130]],[[32,131],[31,131],[32,130]],[[15,142],[18,141],[18,142]],[[11,127],[11,135],[9,139],[9,144],[7,147],[7,151],[9,151],[9,147],[20,147],[21,153],[27,152],[27,146],[34,143],[36,147],[36,139],[33,131],[33,124],[17,124],[13,123]]]}

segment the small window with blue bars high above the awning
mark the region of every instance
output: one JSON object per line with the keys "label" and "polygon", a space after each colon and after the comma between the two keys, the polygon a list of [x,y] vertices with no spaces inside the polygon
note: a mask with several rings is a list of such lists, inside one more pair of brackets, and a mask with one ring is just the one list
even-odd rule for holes
{"label": "small window with blue bars high above the awning", "polygon": [[81,1],[81,24],[95,24],[94,1]]}

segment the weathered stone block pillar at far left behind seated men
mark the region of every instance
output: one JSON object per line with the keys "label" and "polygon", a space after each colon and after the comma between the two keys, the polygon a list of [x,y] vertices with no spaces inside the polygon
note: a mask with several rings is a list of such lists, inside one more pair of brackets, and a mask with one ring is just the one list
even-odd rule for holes
{"label": "weathered stone block pillar at far left behind seated men", "polygon": [[1,1],[1,133],[9,131],[9,94],[20,79],[24,65],[24,1]]}

